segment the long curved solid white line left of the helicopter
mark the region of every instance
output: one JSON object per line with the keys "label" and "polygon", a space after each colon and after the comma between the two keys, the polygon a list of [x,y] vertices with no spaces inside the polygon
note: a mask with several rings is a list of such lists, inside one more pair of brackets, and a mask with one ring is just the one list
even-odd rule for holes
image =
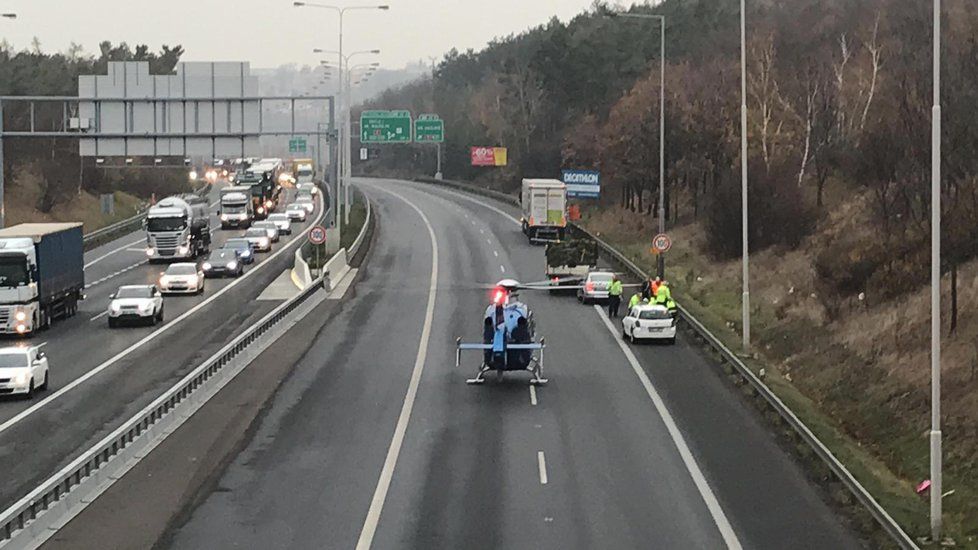
{"label": "long curved solid white line left of the helicopter", "polygon": [[383,187],[376,187],[376,189],[381,189],[404,201],[421,216],[421,220],[428,227],[428,237],[431,240],[431,280],[428,283],[428,305],[424,313],[421,341],[418,344],[418,355],[414,360],[411,381],[408,383],[407,394],[404,396],[401,414],[397,418],[394,437],[391,439],[390,448],[387,449],[387,458],[384,460],[384,468],[380,472],[377,489],[374,490],[374,496],[370,501],[370,510],[367,511],[367,517],[363,522],[363,529],[360,530],[360,538],[357,540],[357,550],[368,550],[373,543],[374,534],[377,532],[377,524],[380,522],[380,514],[384,509],[384,501],[387,499],[387,491],[390,489],[391,481],[394,479],[394,467],[397,465],[397,456],[401,452],[401,445],[404,444],[404,435],[407,433],[408,422],[411,420],[411,410],[414,408],[414,401],[418,395],[418,386],[421,384],[421,373],[424,371],[425,358],[428,356],[428,341],[431,338],[431,323],[435,314],[435,294],[438,288],[438,239],[435,237],[435,229],[432,227],[431,221],[428,220],[428,217],[425,216],[424,212],[417,205],[408,199]]}

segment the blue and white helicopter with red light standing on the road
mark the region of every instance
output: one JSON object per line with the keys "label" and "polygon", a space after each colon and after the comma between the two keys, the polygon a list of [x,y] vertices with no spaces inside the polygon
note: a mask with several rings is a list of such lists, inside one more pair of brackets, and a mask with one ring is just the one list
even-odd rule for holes
{"label": "blue and white helicopter with red light standing on the road", "polygon": [[456,367],[461,363],[463,351],[482,352],[482,365],[475,378],[466,380],[467,384],[484,383],[489,371],[496,371],[497,381],[502,380],[506,371],[529,371],[531,384],[547,383],[543,377],[546,343],[543,338],[536,341],[533,312],[516,299],[523,289],[544,290],[546,287],[522,285],[513,279],[499,281],[492,290],[492,303],[483,315],[482,342],[463,342],[461,337],[455,341]]}

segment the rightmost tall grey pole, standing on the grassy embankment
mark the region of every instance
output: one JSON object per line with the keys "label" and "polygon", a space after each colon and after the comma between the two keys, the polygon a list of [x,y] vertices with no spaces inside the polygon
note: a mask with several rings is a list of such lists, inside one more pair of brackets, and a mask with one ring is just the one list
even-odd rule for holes
{"label": "rightmost tall grey pole, standing on the grassy embankment", "polygon": [[934,0],[930,179],[930,534],[941,540],[941,0]]}

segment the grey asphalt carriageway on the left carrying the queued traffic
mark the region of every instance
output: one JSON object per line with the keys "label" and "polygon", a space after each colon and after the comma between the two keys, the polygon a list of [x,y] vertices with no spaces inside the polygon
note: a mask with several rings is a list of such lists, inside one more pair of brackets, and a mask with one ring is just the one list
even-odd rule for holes
{"label": "grey asphalt carriageway on the left carrying the queued traffic", "polygon": [[[217,188],[209,198],[216,210]],[[294,224],[292,237],[259,254],[244,277],[208,279],[200,296],[165,297],[165,323],[155,327],[109,329],[104,315],[120,285],[154,283],[166,268],[146,261],[142,232],[86,252],[87,298],[78,315],[31,338],[47,343],[50,389],[32,400],[0,400],[0,504],[23,497],[276,306],[254,298],[292,266],[293,249],[283,248],[307,225]],[[212,249],[240,234],[221,230],[216,214],[211,228]]]}

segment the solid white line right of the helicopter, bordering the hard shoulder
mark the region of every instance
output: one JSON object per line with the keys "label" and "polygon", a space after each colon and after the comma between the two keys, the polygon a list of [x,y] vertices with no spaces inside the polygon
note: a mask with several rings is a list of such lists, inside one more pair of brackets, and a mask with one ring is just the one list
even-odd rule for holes
{"label": "solid white line right of the helicopter, bordering the hard shoulder", "polygon": [[642,386],[645,388],[645,392],[649,394],[649,399],[652,400],[652,405],[655,406],[656,412],[659,413],[659,417],[662,419],[662,423],[665,424],[666,430],[669,432],[669,436],[672,438],[672,442],[676,445],[676,450],[679,451],[679,456],[683,459],[683,464],[686,465],[686,471],[689,472],[689,476],[693,478],[693,484],[696,485],[696,489],[699,491],[700,496],[703,497],[703,502],[706,503],[707,509],[710,510],[710,515],[713,516],[713,523],[716,524],[717,529],[720,530],[720,535],[723,537],[723,541],[727,544],[727,548],[732,550],[740,550],[740,540],[737,539],[737,534],[734,533],[733,527],[730,526],[730,522],[727,521],[726,514],[723,513],[723,508],[720,507],[720,502],[717,501],[716,495],[713,494],[713,490],[710,489],[710,484],[706,482],[706,478],[703,477],[703,472],[700,470],[699,465],[696,463],[696,458],[693,457],[693,453],[690,452],[689,446],[686,445],[686,440],[683,438],[682,432],[676,426],[676,422],[673,420],[672,415],[669,414],[669,409],[666,408],[665,402],[662,401],[662,397],[659,396],[659,392],[656,391],[655,387],[652,386],[652,381],[649,380],[645,370],[639,364],[638,359],[635,358],[635,354],[632,350],[625,344],[625,342],[618,337],[618,333],[615,331],[614,325],[611,323],[611,319],[605,314],[604,309],[601,306],[595,305],[594,310],[598,312],[598,316],[604,321],[604,325],[608,327],[608,332],[611,333],[611,337],[614,338],[615,343],[621,348],[622,353],[625,354],[625,359],[632,366],[632,370],[635,371],[635,375],[638,376],[639,381],[642,382]]}

